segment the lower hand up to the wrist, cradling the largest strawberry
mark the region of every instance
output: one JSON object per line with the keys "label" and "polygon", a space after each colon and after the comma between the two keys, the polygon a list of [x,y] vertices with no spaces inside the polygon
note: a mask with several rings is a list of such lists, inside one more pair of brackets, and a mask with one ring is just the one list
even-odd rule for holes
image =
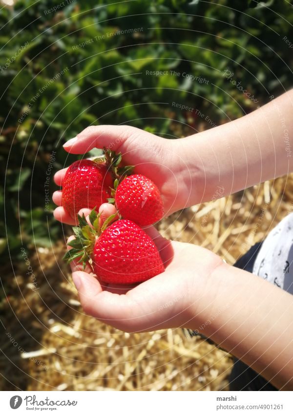
{"label": "lower hand up to the wrist, cradling the largest strawberry", "polygon": [[[168,241],[149,227],[166,271],[136,286],[103,285],[89,264],[71,262],[86,314],[127,332],[197,328],[213,315],[213,271],[224,262],[205,248]],[[74,237],[70,237],[72,240]]]}

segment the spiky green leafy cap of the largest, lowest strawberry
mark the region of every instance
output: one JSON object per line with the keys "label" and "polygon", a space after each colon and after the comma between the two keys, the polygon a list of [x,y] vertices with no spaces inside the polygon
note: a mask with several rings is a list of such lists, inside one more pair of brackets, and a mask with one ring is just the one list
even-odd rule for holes
{"label": "spiky green leafy cap of the largest, lowest strawberry", "polygon": [[103,225],[100,226],[99,219],[101,217],[101,213],[97,214],[96,208],[94,208],[89,215],[90,226],[87,223],[84,214],[83,216],[78,215],[79,226],[74,226],[72,228],[75,234],[75,239],[68,242],[71,249],[69,249],[63,256],[63,260],[71,262],[79,259],[78,262],[81,262],[83,264],[83,268],[85,268],[86,262],[91,260],[96,240],[116,216],[117,214],[109,216]]}

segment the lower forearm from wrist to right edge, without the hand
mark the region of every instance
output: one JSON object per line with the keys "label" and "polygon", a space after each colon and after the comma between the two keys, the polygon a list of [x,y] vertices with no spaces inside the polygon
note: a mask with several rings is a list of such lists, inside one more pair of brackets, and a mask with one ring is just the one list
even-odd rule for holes
{"label": "lower forearm from wrist to right edge, without the hand", "polygon": [[208,321],[198,325],[199,331],[277,388],[292,390],[292,296],[225,263],[211,277],[216,291]]}

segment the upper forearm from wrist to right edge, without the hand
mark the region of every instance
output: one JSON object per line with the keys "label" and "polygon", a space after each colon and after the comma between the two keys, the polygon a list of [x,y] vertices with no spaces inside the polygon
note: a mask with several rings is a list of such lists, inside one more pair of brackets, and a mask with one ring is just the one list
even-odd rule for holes
{"label": "upper forearm from wrist to right edge, without the hand", "polygon": [[192,177],[189,204],[293,171],[293,90],[264,107],[178,140]]}

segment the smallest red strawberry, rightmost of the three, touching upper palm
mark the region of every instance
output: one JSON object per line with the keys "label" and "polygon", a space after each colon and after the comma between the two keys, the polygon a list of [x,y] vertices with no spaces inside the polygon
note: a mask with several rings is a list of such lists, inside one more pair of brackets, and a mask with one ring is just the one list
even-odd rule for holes
{"label": "smallest red strawberry, rightmost of the three, touching upper palm", "polygon": [[151,225],[164,215],[157,186],[143,175],[130,175],[118,185],[116,207],[124,219],[133,220],[140,226]]}

